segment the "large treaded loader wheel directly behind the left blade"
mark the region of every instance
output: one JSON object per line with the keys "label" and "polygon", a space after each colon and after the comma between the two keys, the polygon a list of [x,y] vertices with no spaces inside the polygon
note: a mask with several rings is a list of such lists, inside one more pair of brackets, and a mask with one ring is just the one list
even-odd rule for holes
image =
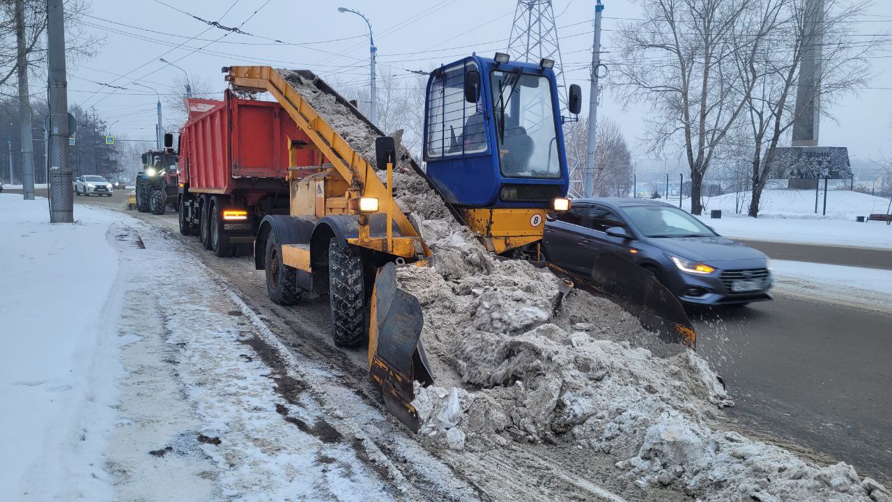
{"label": "large treaded loader wheel directly behind the left blade", "polygon": [[365,330],[365,290],[359,249],[328,243],[328,290],[332,311],[332,338],[338,347],[358,345]]}

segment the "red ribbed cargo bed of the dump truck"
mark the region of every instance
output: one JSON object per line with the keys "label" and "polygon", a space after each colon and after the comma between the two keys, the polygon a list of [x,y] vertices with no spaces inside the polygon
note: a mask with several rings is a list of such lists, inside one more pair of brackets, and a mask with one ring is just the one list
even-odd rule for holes
{"label": "red ribbed cargo bed of the dump truck", "polygon": [[[295,149],[289,159],[288,141],[310,144],[282,105],[236,97],[223,101],[186,99],[189,120],[180,132],[180,175],[193,193],[226,194],[278,189],[288,165],[318,164],[311,150]],[[287,194],[287,191],[285,191]]]}

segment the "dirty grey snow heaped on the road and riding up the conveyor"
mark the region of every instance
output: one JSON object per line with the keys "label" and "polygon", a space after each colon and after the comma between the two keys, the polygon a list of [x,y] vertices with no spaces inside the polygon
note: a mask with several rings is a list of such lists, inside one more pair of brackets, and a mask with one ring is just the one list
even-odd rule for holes
{"label": "dirty grey snow heaped on the road and riding up the conveyor", "polygon": [[[355,149],[374,160],[373,130],[332,96],[280,71]],[[343,127],[343,130],[340,129]],[[621,459],[641,483],[706,500],[886,500],[846,464],[818,469],[789,452],[712,431],[733,403],[708,364],[667,346],[602,298],[572,291],[558,307],[550,272],[486,253],[454,222],[401,151],[401,208],[434,250],[402,267],[437,385],[416,389],[421,434],[434,448],[484,450],[510,440],[575,443]]]}

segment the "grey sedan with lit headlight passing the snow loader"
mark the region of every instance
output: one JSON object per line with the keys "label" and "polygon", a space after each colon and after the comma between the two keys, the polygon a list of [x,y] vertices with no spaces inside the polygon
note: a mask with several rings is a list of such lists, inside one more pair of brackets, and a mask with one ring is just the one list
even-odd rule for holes
{"label": "grey sedan with lit headlight passing the snow loader", "polygon": [[548,260],[588,276],[599,253],[624,255],[653,272],[687,305],[746,305],[771,300],[770,261],[724,238],[678,207],[639,198],[574,199],[549,215]]}

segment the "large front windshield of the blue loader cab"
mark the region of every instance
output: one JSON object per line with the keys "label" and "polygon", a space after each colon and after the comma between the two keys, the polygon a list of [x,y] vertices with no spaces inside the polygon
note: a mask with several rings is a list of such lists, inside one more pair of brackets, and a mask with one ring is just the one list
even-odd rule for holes
{"label": "large front windshield of the blue loader cab", "polygon": [[492,71],[501,172],[512,178],[560,177],[558,134],[549,79]]}

